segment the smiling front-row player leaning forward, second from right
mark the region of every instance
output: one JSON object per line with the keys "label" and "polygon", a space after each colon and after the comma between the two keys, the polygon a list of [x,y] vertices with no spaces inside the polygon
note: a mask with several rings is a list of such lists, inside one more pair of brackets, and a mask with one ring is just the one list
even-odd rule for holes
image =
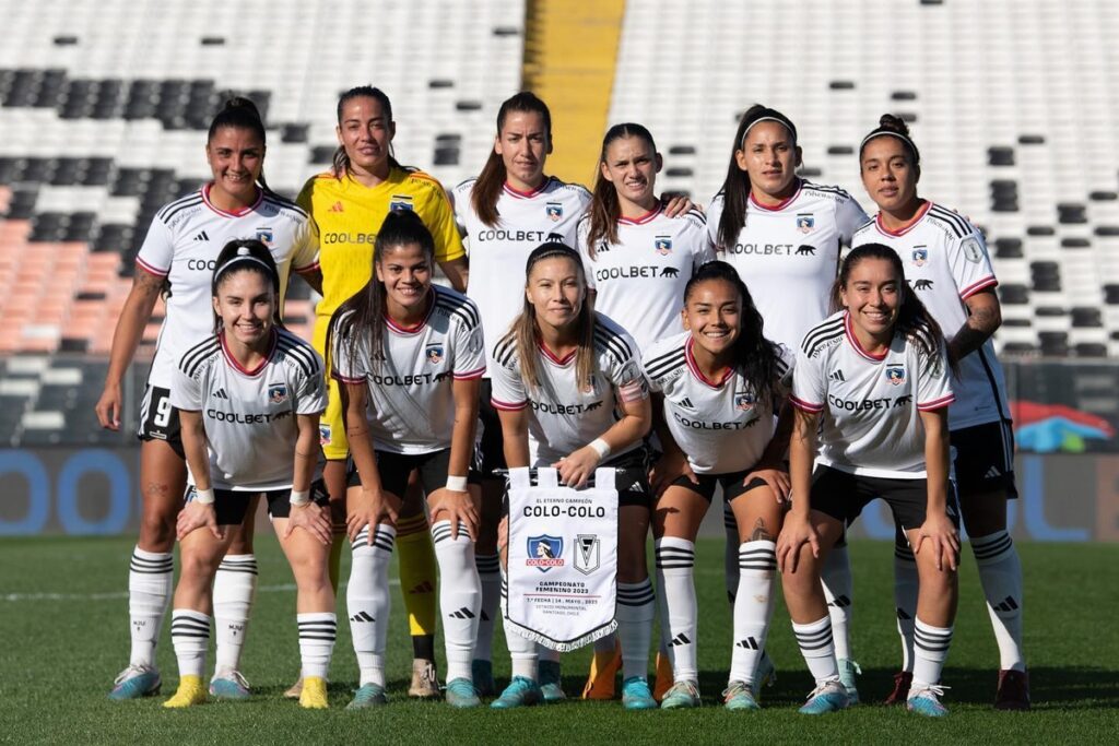
{"label": "smiling front-row player leaning forward, second from right", "polygon": [[791,413],[783,405],[792,352],[762,336],[762,318],[728,264],[705,264],[683,298],[687,331],[653,344],[645,363],[665,452],[653,470],[653,536],[676,680],[661,707],[699,706],[692,572],[699,522],[718,484],[742,527],[723,698],[727,709],[758,709],[754,676],[773,613],[774,540],[789,494],[782,460]]}

